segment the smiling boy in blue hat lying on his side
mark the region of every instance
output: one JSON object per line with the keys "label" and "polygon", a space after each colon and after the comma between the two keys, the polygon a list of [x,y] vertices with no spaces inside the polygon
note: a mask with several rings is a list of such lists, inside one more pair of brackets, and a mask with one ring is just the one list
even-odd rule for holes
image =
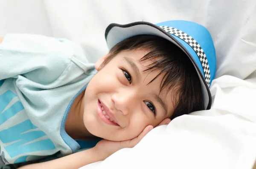
{"label": "smiling boy in blue hat lying on his side", "polygon": [[111,24],[105,37],[111,50],[95,65],[65,39],[3,38],[0,166],[60,152],[67,156],[21,168],[77,169],[135,146],[170,119],[210,108],[215,50],[203,26]]}

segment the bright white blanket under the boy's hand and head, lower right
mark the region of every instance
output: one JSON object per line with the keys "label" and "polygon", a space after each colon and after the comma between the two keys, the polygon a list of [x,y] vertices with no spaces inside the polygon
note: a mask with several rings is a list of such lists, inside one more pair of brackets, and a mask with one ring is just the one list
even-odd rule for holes
{"label": "bright white blanket under the boy's hand and head, lower right", "polygon": [[232,76],[212,83],[211,110],[175,118],[132,149],[81,169],[252,169],[256,159],[256,86]]}

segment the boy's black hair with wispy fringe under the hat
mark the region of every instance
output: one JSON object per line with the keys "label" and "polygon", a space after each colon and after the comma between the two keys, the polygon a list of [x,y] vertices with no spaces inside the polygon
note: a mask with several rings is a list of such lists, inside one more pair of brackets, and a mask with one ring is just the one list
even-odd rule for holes
{"label": "boy's black hair with wispy fringe under the hat", "polygon": [[173,89],[174,112],[171,119],[191,112],[204,110],[201,83],[198,74],[189,57],[174,43],[162,37],[153,35],[137,35],[117,43],[109,52],[109,57],[102,63],[100,69],[121,51],[149,51],[143,60],[154,60],[145,71],[160,70],[164,74],[160,84],[160,92]]}

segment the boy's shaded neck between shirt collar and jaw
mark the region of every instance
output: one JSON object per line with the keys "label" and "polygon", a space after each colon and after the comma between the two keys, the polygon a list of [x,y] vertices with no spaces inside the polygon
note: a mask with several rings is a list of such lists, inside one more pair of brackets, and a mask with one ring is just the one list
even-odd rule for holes
{"label": "boy's shaded neck between shirt collar and jaw", "polygon": [[84,92],[73,102],[67,116],[65,131],[73,139],[88,140],[94,137],[84,126]]}

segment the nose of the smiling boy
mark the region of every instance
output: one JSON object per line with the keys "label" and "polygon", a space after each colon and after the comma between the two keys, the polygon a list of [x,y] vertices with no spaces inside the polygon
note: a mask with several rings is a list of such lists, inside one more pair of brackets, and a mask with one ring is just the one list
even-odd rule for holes
{"label": "nose of the smiling boy", "polygon": [[114,93],[111,96],[111,100],[117,111],[123,115],[128,115],[136,102],[134,92],[131,91]]}

